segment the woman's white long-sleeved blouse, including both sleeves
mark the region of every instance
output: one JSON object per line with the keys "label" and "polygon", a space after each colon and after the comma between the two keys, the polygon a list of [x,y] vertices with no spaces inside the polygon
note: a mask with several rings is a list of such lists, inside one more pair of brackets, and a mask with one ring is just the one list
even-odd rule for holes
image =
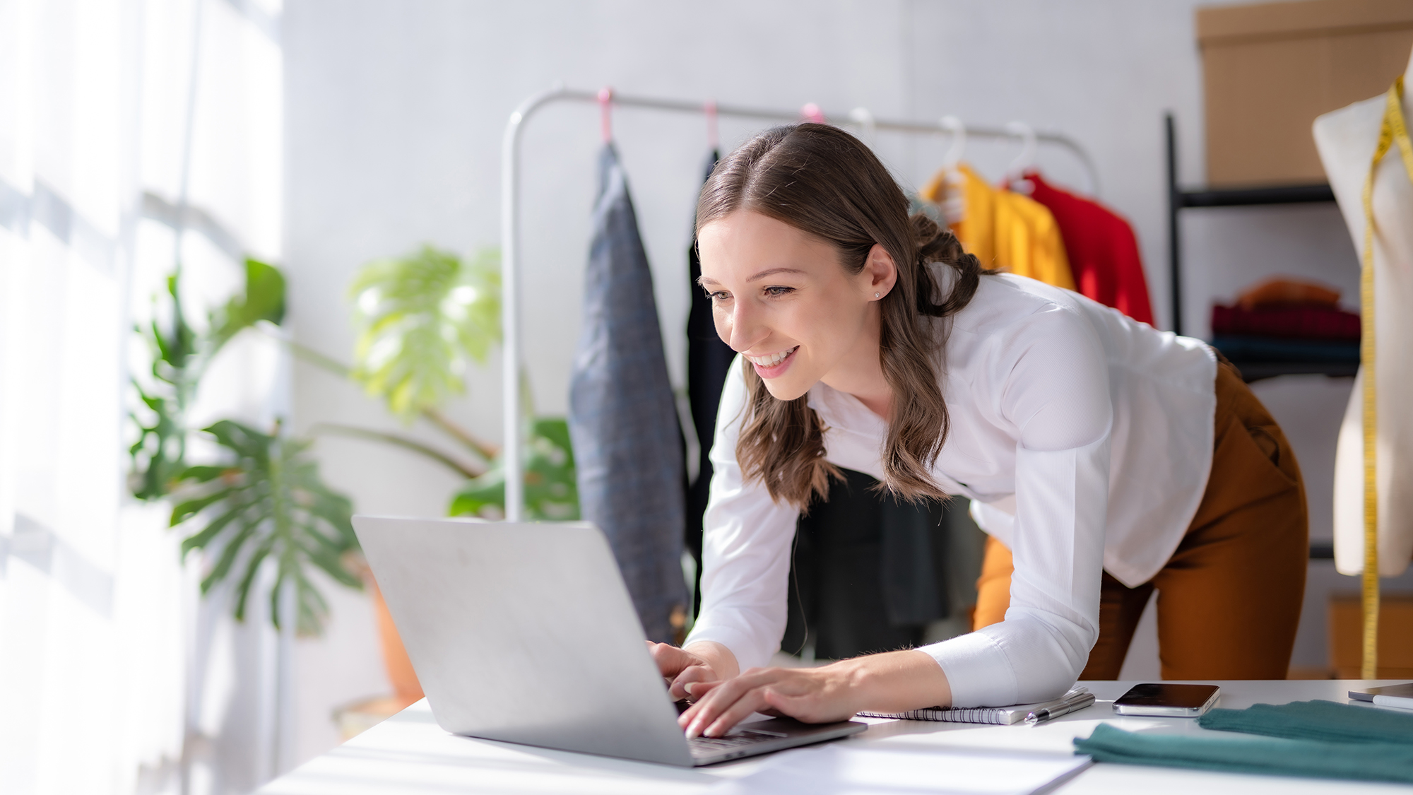
{"label": "woman's white long-sleeved blouse, including both sleeves", "polygon": [[[933,267],[945,289],[951,269]],[[1101,569],[1130,587],[1147,581],[1197,512],[1217,359],[1198,340],[1013,274],[983,276],[950,324],[940,385],[951,430],[933,478],[972,501],[981,528],[1010,547],[1015,574],[1005,621],[921,651],[947,673],[954,706],[1051,699],[1099,635]],[[746,669],[780,646],[798,512],[742,478],[740,366],[738,356],[716,417],[702,610],[687,642],[719,642]],[[886,422],[824,383],[808,402],[828,461],[882,480]]]}

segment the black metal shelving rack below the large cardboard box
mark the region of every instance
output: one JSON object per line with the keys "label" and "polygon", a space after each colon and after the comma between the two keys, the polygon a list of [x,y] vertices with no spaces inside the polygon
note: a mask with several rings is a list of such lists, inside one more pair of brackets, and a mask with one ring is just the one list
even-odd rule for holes
{"label": "black metal shelving rack below the large cardboard box", "polygon": [[[1173,129],[1173,115],[1166,117],[1167,126],[1167,238],[1169,238],[1169,280],[1173,306],[1173,331],[1183,332],[1183,249],[1178,215],[1188,208],[1202,207],[1258,207],[1276,204],[1316,204],[1334,201],[1334,191],[1327,184],[1314,185],[1251,185],[1239,188],[1183,190],[1177,185],[1177,134]],[[1289,362],[1232,359],[1248,382],[1277,375],[1328,375],[1348,376],[1358,371],[1356,362]]]}

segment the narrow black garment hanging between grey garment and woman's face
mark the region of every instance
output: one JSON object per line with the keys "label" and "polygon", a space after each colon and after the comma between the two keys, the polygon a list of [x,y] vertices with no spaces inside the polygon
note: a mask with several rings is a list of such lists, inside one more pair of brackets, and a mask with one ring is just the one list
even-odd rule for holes
{"label": "narrow black garment hanging between grey garment and woman's face", "polygon": [[[706,157],[705,174],[702,180],[711,177],[712,168],[719,158],[716,151]],[[687,399],[692,409],[692,426],[697,429],[697,440],[701,443],[698,454],[697,480],[687,488],[687,549],[697,560],[697,584],[694,586],[692,607],[694,614],[701,608],[701,570],[702,570],[702,513],[706,511],[706,497],[711,487],[711,453],[712,440],[716,437],[716,407],[721,405],[721,389],[726,383],[726,371],[736,358],[736,352],[716,337],[716,324],[711,317],[711,298],[706,291],[697,284],[702,274],[701,260],[697,257],[697,235],[692,235],[691,246],[687,249],[687,262],[691,270],[691,310],[687,314]]]}

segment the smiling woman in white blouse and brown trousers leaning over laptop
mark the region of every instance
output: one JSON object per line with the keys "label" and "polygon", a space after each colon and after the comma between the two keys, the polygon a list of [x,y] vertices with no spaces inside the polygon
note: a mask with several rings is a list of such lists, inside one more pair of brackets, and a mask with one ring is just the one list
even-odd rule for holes
{"label": "smiling woman in white blouse and brown trousers leaning over laptop", "polygon": [[[829,126],[732,153],[697,224],[701,286],[740,361],[711,453],[702,611],[682,648],[651,646],[673,696],[695,699],[688,736],[753,712],[827,721],[1056,697],[1087,663],[1116,675],[1154,587],[1164,675],[1284,676],[1307,555],[1300,471],[1211,348],[985,272]],[[784,629],[796,518],[836,467],[907,499],[971,498],[998,540],[978,614],[1003,620],[920,649],[756,668]]]}

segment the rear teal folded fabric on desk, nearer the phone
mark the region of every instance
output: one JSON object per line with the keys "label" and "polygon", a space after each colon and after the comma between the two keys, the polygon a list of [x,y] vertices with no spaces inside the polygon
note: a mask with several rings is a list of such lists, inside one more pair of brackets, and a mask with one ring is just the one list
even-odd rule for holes
{"label": "rear teal folded fabric on desk, nearer the phone", "polygon": [[1197,724],[1218,731],[1242,731],[1291,740],[1413,745],[1413,712],[1400,714],[1335,702],[1293,702],[1289,704],[1256,704],[1243,710],[1211,710],[1197,719]]}

